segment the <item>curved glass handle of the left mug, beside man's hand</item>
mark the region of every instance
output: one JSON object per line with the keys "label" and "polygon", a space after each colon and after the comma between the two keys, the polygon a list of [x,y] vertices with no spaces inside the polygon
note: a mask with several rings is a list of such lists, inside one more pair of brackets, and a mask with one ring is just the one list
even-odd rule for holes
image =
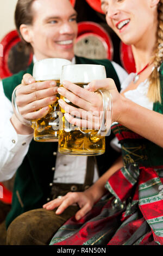
{"label": "curved glass handle of the left mug, beside man's hand", "polygon": [[22,117],[22,115],[20,114],[20,112],[18,111],[18,107],[17,107],[17,104],[16,104],[16,90],[17,90],[18,87],[16,87],[14,89],[14,92],[12,93],[12,108],[14,110],[14,114],[16,115],[17,119],[23,124],[23,125],[26,125],[26,126],[30,126],[32,127],[32,121],[28,121],[26,119],[24,119]]}

